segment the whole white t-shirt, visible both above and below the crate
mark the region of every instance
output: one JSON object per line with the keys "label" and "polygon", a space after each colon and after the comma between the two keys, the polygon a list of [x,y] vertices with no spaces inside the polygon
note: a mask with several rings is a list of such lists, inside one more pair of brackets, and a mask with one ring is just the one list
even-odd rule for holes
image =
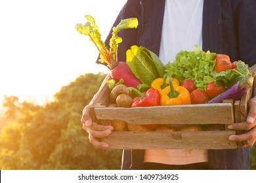
{"label": "whole white t-shirt, visible both above and below the crate", "polygon": [[[203,0],[166,0],[160,59],[166,64],[181,50],[202,48]],[[184,165],[206,162],[207,150],[146,150],[144,162]]]}

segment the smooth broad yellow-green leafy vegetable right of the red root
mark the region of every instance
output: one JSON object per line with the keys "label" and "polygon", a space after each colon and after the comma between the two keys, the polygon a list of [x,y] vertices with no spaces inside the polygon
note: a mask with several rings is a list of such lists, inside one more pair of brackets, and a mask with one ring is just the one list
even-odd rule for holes
{"label": "smooth broad yellow-green leafy vegetable right of the red root", "polygon": [[154,61],[149,50],[143,46],[131,46],[126,52],[126,59],[131,71],[142,83],[150,85],[153,80],[161,77],[158,61]]}

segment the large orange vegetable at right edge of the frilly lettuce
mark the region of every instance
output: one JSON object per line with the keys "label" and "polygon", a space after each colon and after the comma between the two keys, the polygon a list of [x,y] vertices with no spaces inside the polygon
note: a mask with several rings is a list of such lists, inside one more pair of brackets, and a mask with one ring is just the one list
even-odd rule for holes
{"label": "large orange vegetable at right edge of the frilly lettuce", "polygon": [[222,71],[226,71],[228,69],[232,69],[232,63],[230,61],[229,56],[227,56],[225,54],[217,54],[215,56],[214,70],[217,73],[221,73]]}

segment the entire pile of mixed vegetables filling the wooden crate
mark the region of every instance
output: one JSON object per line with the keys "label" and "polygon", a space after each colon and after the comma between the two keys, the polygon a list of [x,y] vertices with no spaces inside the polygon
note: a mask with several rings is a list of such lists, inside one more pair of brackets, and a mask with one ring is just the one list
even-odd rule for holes
{"label": "entire pile of mixed vegetables filling the wooden crate", "polygon": [[[112,79],[110,107],[153,107],[158,105],[196,105],[222,103],[224,99],[239,100],[251,88],[255,73],[249,73],[243,61],[230,61],[225,54],[203,52],[198,45],[194,51],[181,50],[173,62],[163,65],[160,58],[143,46],[131,46],[126,62],[117,60],[118,45],[122,42],[117,33],[122,29],[136,28],[137,18],[121,20],[113,28],[109,48],[100,38],[100,31],[92,16],[89,22],[77,24],[81,34],[88,35],[100,52],[100,61],[106,63]],[[117,122],[115,130],[166,131],[198,130],[199,126],[135,125]]]}

